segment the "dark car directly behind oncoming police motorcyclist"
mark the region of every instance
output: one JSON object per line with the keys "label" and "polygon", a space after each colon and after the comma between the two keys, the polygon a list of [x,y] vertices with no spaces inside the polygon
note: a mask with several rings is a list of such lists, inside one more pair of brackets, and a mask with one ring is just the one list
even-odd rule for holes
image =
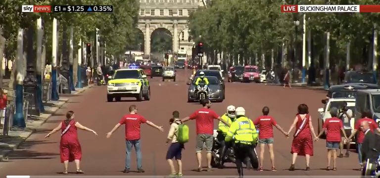
{"label": "dark car directly behind oncoming police motorcyclist", "polygon": [[[197,100],[197,95],[194,92],[195,91],[195,81],[198,77],[195,77],[192,83],[189,86],[188,90],[188,102],[194,102]],[[216,102],[223,102],[224,100],[224,89],[222,87],[222,82],[217,78],[213,76],[205,76],[207,78],[209,84],[209,100],[210,101],[216,101]]]}

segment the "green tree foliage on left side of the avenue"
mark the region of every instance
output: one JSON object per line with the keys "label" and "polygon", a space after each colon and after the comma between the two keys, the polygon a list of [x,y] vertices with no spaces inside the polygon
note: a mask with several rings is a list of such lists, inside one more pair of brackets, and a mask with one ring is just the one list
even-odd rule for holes
{"label": "green tree foliage on left side of the avenue", "polygon": [[[21,6],[25,4],[52,5],[52,8],[54,5],[113,5],[114,12],[21,13]],[[7,40],[6,57],[11,59],[15,56],[18,28],[35,28],[36,20],[40,17],[44,21],[47,60],[51,57],[54,18],[59,22],[60,32],[63,26],[68,30],[74,28],[74,48],[78,47],[80,39],[85,43],[94,42],[95,29],[98,28],[100,42],[106,43],[107,54],[123,54],[127,46],[136,43],[138,10],[139,3],[136,0],[0,0],[0,27]],[[59,35],[61,45],[61,33]]]}

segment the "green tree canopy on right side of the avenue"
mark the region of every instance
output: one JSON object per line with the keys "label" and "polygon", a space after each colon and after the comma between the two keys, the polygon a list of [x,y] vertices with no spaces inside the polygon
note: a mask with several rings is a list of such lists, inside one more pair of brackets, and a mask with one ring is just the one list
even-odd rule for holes
{"label": "green tree canopy on right side of the avenue", "polygon": [[[380,0],[212,0],[208,8],[199,8],[190,15],[191,35],[205,45],[209,54],[223,51],[235,59],[248,59],[257,53],[268,55],[272,50],[280,51],[283,43],[287,49],[294,48],[302,42],[303,14],[282,13],[283,4],[359,5],[380,4]],[[313,58],[323,56],[324,34],[330,32],[332,62],[345,58],[349,42],[352,62],[369,60],[379,19],[379,13],[307,13],[306,31],[311,30]],[[295,21],[300,22],[298,27]]]}

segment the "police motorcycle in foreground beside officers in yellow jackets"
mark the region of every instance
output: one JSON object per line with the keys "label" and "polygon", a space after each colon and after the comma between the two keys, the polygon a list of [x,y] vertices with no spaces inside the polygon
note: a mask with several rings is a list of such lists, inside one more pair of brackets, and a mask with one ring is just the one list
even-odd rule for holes
{"label": "police motorcycle in foreground beside officers in yellow jackets", "polygon": [[[218,168],[219,167],[219,164],[220,164],[219,160],[220,160],[220,156],[221,156],[221,153],[222,153],[222,145],[221,145],[221,143],[219,142],[219,140],[217,138],[219,132],[220,131],[218,131],[218,130],[214,130],[214,134],[213,134],[214,142],[213,142],[212,149],[211,149],[211,151],[212,151],[211,152],[211,154],[212,154],[211,166],[213,168]],[[235,135],[232,138],[234,140],[235,139]],[[257,142],[253,146],[254,146],[253,147],[253,157],[256,157],[257,159],[253,160],[253,162],[252,162],[247,157],[243,161],[243,164],[246,165],[247,169],[250,169],[250,168],[258,169],[259,168],[259,158],[257,156],[257,152],[256,152],[256,149],[255,149],[256,146],[257,146]],[[233,146],[231,146],[230,148],[228,148],[228,150],[226,150],[226,154],[225,154],[223,160],[224,160],[223,161],[224,163],[236,163],[236,158],[235,158],[235,153],[234,153]],[[253,163],[253,165],[252,165],[252,163]]]}

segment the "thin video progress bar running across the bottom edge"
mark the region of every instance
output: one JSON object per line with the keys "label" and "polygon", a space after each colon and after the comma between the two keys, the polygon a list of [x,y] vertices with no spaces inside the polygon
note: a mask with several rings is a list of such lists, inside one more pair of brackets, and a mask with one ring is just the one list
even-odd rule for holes
{"label": "thin video progress bar running across the bottom edge", "polygon": [[[360,174],[360,173],[359,173]],[[6,178],[171,178],[170,176],[6,176]],[[241,178],[239,176],[182,176],[181,178]],[[244,176],[244,178],[374,178],[373,176]]]}

